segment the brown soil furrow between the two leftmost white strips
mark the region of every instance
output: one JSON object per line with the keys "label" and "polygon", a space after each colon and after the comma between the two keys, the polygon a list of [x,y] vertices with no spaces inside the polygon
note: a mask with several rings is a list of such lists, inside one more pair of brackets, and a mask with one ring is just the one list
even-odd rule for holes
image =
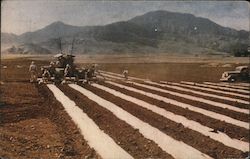
{"label": "brown soil furrow between the two leftmost white strips", "polygon": [[102,108],[81,93],[69,88],[59,88],[73,100],[106,134],[113,138],[125,151],[135,158],[172,158],[160,149],[157,144],[148,140],[126,122],[115,117],[110,111]]}

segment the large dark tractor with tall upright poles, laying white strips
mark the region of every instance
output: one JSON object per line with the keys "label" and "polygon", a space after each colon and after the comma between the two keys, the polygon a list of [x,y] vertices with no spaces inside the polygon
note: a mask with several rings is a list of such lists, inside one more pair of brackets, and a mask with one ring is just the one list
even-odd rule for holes
{"label": "large dark tractor with tall upright poles, laying white strips", "polygon": [[97,81],[96,68],[92,65],[91,68],[77,68],[74,64],[74,55],[72,55],[74,39],[72,42],[72,49],[70,54],[63,54],[60,39],[61,53],[56,54],[54,57],[56,61],[50,62],[49,66],[41,67],[41,78],[39,83],[89,83]]}

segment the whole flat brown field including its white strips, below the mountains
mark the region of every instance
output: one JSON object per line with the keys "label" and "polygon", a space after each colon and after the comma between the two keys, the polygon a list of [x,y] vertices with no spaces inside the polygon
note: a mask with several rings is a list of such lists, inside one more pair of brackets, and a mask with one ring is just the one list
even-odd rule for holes
{"label": "whole flat brown field including its white strips, below the mountains", "polygon": [[[79,67],[98,63],[81,60]],[[30,62],[1,60],[0,157],[244,158],[249,153],[249,85],[218,81],[245,61],[102,61],[98,69],[105,82],[58,86],[29,83]],[[114,153],[93,140],[102,135]]]}

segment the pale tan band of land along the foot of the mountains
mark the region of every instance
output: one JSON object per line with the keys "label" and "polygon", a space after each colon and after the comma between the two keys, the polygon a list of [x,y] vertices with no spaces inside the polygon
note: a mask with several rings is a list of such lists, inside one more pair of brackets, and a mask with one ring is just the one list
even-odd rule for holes
{"label": "pale tan band of land along the foot of the mountains", "polygon": [[[249,57],[229,57],[224,55],[166,55],[166,54],[102,54],[76,55],[77,63],[249,63]],[[53,55],[15,55],[2,54],[1,59],[30,58],[52,60]]]}

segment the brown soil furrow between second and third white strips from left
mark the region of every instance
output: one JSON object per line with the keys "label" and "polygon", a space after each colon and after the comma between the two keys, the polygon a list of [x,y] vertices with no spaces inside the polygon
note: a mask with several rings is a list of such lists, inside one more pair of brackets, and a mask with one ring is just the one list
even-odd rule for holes
{"label": "brown soil furrow between second and third white strips from left", "polygon": [[220,142],[214,141],[211,138],[189,128],[185,128],[182,124],[175,123],[132,102],[126,101],[89,85],[85,86],[84,88],[90,90],[91,92],[104,99],[111,101],[125,111],[149,123],[153,127],[158,128],[159,130],[175,138],[176,140],[183,141],[184,143],[191,145],[192,147],[205,154],[208,154],[211,157],[226,158],[231,155],[235,157],[243,157],[245,155],[239,150],[227,147]]}

